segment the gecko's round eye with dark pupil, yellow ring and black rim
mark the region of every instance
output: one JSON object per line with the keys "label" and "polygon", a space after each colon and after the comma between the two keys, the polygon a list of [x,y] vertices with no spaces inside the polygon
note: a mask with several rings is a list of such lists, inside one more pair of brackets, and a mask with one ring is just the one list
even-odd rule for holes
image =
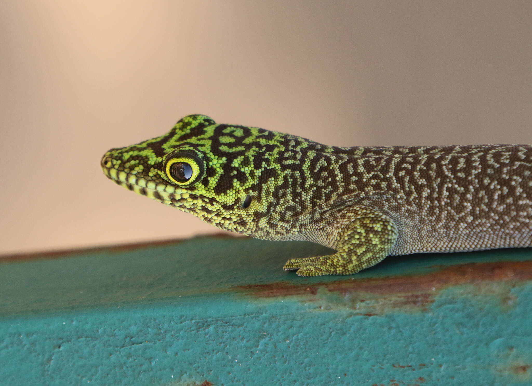
{"label": "gecko's round eye with dark pupil, yellow ring and black rim", "polygon": [[165,172],[174,184],[188,187],[199,181],[205,172],[203,161],[195,154],[179,152],[167,161]]}

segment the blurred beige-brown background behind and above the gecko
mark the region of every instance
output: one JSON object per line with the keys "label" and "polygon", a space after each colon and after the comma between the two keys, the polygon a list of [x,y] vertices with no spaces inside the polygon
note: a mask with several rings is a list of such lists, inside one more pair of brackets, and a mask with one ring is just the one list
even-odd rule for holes
{"label": "blurred beige-brown background behind and above the gecko", "polygon": [[331,145],[532,143],[532,2],[3,1],[0,254],[219,232],[102,154],[181,116]]}

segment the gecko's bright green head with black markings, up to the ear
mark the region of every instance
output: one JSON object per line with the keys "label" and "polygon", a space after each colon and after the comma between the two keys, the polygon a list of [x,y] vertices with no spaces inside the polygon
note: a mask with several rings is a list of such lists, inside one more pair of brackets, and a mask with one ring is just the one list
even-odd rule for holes
{"label": "gecko's bright green head with black markings, up to the ear", "polygon": [[282,136],[188,115],[163,136],[109,150],[101,166],[107,177],[137,194],[219,228],[256,234],[275,206]]}

